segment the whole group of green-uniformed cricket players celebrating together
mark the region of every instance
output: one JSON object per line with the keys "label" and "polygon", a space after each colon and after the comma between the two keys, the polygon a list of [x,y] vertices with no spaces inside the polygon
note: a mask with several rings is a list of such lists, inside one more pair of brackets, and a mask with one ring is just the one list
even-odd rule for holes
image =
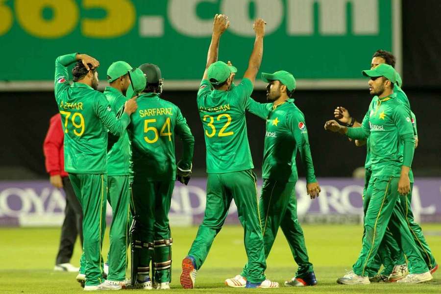
{"label": "whole group of green-uniformed cricket players celebrating together", "polygon": [[[319,196],[303,113],[294,104],[296,82],[287,71],[262,73],[269,103],[251,98],[263,57],[265,22],[255,21],[254,47],[239,84],[231,62],[218,61],[221,35],[228,28],[216,15],[207,63],[196,97],[204,129],[207,166],[205,215],[182,261],[180,284],[193,289],[216,235],[234,199],[244,227],[247,263],[225,280],[234,288],[278,288],[266,278],[266,259],[279,227],[298,269],[285,286],[318,282],[297,220],[295,184],[297,151],[306,169],[307,193]],[[67,67],[74,64],[73,84]],[[164,80],[158,66],[132,68],[117,61],[107,70],[108,87],[98,89],[97,59],[67,54],[55,61],[55,98],[64,130],[65,170],[83,209],[83,254],[76,279],[85,291],[170,289],[172,236],[169,226],[175,181],[187,185],[192,175],[195,139],[180,109],[161,98]],[[352,271],[340,284],[432,279],[438,265],[411,211],[413,174],[410,169],[417,140],[415,115],[400,89],[393,55],[375,52],[369,77],[373,96],[362,123],[337,107],[337,121],[325,129],[366,144],[366,186],[363,195],[362,250]],[[263,185],[257,177],[248,144],[245,112],[266,122]],[[176,162],[175,136],[182,141]],[[106,200],[113,218],[110,249],[104,264],[101,247]],[[127,248],[131,248],[128,265]],[[126,269],[130,266],[130,278]],[[381,272],[380,268],[383,268]]]}

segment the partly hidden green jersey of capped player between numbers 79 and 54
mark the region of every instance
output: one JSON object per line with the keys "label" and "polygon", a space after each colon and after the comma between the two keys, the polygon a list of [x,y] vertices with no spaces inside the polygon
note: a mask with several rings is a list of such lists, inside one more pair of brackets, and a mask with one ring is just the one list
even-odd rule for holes
{"label": "partly hidden green jersey of capped player between numbers 79 and 54", "polygon": [[[123,96],[123,93],[113,87],[106,87],[104,89],[104,95],[106,96],[107,101],[109,101],[110,108],[115,115],[122,109],[127,100],[127,98]],[[123,135],[115,139],[118,141],[110,142],[111,136],[109,136],[109,144],[114,144],[107,152],[107,174],[128,175],[131,172],[132,150],[127,131],[124,131]]]}

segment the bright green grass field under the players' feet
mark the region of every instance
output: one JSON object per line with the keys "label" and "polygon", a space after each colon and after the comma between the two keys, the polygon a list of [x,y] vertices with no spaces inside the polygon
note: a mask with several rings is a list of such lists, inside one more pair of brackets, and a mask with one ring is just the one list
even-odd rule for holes
{"label": "bright green grass field under the players' feet", "polygon": [[[294,276],[296,265],[289,247],[279,231],[276,243],[267,261],[267,277],[281,283],[279,289],[246,290],[228,288],[225,278],[238,273],[245,263],[243,231],[241,227],[226,226],[215,240],[211,252],[198,271],[196,289],[184,290],[179,284],[180,262],[185,257],[196,227],[172,228],[173,271],[172,290],[169,293],[441,293],[441,270],[425,284],[370,284],[363,286],[337,285],[336,279],[350,270],[360,250],[362,227],[357,225],[305,225],[303,226],[309,256],[314,264],[319,285],[307,288],[284,287],[283,281]],[[435,257],[441,260],[441,226],[424,225],[427,241]],[[55,254],[60,230],[56,228],[0,228],[0,294],[80,293],[75,273],[54,272]],[[103,245],[108,249],[108,232]],[[80,247],[75,247],[72,263],[78,265]],[[123,290],[147,291],[147,290]],[[153,290],[157,291],[157,290]]]}

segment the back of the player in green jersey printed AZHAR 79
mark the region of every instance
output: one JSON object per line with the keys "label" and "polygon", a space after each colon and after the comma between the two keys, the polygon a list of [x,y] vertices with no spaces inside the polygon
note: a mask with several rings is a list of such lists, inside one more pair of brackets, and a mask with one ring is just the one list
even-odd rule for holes
{"label": "back of the player in green jersey printed AZHAR 79", "polygon": [[[59,83],[67,83],[64,78]],[[64,130],[65,170],[71,173],[105,173],[107,131],[99,112],[110,111],[105,96],[84,83],[56,91]]]}

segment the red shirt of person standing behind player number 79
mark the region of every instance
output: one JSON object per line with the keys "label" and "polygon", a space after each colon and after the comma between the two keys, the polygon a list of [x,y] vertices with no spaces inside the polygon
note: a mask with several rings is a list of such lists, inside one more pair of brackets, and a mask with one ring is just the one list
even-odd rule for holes
{"label": "red shirt of person standing behind player number 79", "polygon": [[43,143],[46,171],[50,175],[68,176],[64,171],[64,133],[61,126],[61,115],[58,113],[50,118],[49,130]]}

